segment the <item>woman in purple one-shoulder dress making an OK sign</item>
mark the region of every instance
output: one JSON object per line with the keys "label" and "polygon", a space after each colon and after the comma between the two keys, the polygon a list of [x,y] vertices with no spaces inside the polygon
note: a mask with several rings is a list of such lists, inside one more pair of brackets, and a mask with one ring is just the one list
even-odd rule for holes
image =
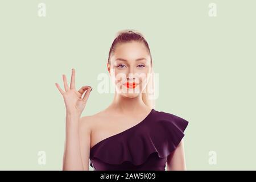
{"label": "woman in purple one-shoulder dress making an OK sign", "polygon": [[63,75],[65,91],[56,83],[66,106],[63,170],[88,170],[89,165],[94,170],[186,170],[183,132],[188,121],[155,110],[148,100],[144,91],[152,58],[143,35],[119,32],[107,67],[115,84],[114,100],[94,115],[81,117],[92,88],[76,90],[75,69],[70,86]]}

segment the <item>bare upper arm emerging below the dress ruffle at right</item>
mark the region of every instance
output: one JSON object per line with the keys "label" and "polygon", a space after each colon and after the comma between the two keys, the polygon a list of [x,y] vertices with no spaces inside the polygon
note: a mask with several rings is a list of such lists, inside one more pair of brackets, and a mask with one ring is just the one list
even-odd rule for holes
{"label": "bare upper arm emerging below the dress ruffle at right", "polygon": [[167,171],[175,171],[175,170],[187,170],[185,164],[185,153],[184,153],[184,143],[183,139],[181,139],[180,143],[167,157]]}

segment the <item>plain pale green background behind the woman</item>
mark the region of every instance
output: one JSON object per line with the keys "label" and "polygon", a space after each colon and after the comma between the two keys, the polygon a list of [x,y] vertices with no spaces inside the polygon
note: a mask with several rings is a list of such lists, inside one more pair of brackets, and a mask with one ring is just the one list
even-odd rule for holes
{"label": "plain pale green background behind the woman", "polygon": [[[46,17],[38,3],[46,3]],[[208,15],[209,3],[217,16]],[[117,31],[143,32],[159,73],[156,110],[189,121],[188,170],[256,169],[255,1],[0,2],[0,169],[61,170],[65,106],[56,89],[76,69],[91,85],[82,115],[105,109],[97,76]],[[216,151],[217,164],[208,163]],[[46,151],[46,165],[38,164]],[[90,168],[92,169],[92,168]]]}

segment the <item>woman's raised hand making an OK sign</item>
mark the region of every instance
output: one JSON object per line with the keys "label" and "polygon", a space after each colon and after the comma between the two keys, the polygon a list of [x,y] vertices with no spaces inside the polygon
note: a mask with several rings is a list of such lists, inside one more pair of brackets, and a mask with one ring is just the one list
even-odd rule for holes
{"label": "woman's raised hand making an OK sign", "polygon": [[[85,108],[86,102],[88,100],[90,91],[92,91],[92,88],[90,86],[82,86],[80,90],[76,90],[75,69],[72,69],[70,88],[68,87],[67,77],[65,75],[63,75],[63,82],[65,92],[60,88],[59,84],[55,83],[55,85],[57,86],[57,89],[59,89],[61,95],[64,98],[67,114],[75,114],[80,116]],[[84,94],[84,97],[82,97],[82,94]]]}

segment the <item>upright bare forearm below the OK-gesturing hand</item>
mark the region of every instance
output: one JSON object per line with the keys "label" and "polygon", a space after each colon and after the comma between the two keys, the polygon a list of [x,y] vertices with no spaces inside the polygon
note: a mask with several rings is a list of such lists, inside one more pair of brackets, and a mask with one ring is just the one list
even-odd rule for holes
{"label": "upright bare forearm below the OK-gesturing hand", "polygon": [[79,140],[79,119],[79,115],[66,114],[63,170],[83,170]]}

